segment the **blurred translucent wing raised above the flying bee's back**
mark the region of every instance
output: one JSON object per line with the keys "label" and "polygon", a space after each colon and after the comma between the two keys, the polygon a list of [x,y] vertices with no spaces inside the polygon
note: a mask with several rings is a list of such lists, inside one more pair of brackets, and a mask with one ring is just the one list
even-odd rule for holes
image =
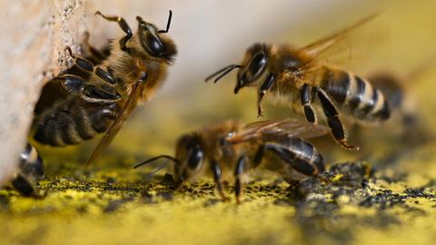
{"label": "blurred translucent wing raised above the flying bee's back", "polygon": [[374,17],[379,15],[378,13],[369,15],[362,20],[356,22],[353,25],[350,25],[348,27],[345,27],[339,32],[329,34],[327,36],[324,36],[312,44],[307,44],[302,47],[302,51],[311,54],[313,57],[317,57],[318,55],[322,54],[322,52],[326,51],[327,49],[331,48],[333,44],[336,44],[339,40],[341,40],[343,37],[346,36],[346,34],[350,33],[350,31],[354,30],[355,28],[369,22]]}

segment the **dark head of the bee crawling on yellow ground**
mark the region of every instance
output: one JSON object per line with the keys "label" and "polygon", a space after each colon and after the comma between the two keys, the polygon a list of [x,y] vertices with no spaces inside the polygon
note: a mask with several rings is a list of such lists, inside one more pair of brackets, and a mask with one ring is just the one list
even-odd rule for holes
{"label": "dark head of the bee crawling on yellow ground", "polygon": [[174,178],[176,182],[189,181],[203,169],[203,142],[198,134],[190,133],[180,137],[176,143]]}

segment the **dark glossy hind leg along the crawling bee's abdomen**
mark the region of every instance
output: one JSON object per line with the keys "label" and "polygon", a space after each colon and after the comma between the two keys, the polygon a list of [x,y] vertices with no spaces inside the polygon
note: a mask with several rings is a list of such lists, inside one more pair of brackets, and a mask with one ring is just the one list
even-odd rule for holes
{"label": "dark glossy hind leg along the crawling bee's abdomen", "polygon": [[307,176],[318,175],[318,171],[312,167],[311,163],[302,159],[301,151],[293,151],[292,147],[284,147],[277,143],[265,143],[265,149],[277,155],[283,162],[290,164],[295,171]]}

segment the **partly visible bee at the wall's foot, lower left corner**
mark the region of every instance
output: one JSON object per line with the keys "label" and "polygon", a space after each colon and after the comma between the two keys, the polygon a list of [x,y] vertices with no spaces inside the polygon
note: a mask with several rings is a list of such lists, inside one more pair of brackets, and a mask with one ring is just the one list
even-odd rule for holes
{"label": "partly visible bee at the wall's foot, lower left corner", "polygon": [[12,180],[12,185],[24,196],[35,195],[34,184],[44,175],[44,162],[39,153],[30,143],[20,154],[18,171]]}

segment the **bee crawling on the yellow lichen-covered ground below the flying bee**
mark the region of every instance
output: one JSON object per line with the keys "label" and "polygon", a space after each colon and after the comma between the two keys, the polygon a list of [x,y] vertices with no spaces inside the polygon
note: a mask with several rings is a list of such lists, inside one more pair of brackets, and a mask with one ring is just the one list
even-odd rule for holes
{"label": "bee crawling on the yellow lichen-covered ground below the flying bee", "polygon": [[326,127],[298,120],[263,121],[243,125],[225,121],[200,131],[183,134],[176,142],[175,156],[159,155],[134,166],[160,158],[174,162],[176,187],[205,173],[212,174],[223,201],[223,179],[234,174],[234,193],[240,202],[243,177],[254,168],[281,173],[286,181],[307,176],[319,177],[324,171],[322,155],[302,138],[328,132]]}

